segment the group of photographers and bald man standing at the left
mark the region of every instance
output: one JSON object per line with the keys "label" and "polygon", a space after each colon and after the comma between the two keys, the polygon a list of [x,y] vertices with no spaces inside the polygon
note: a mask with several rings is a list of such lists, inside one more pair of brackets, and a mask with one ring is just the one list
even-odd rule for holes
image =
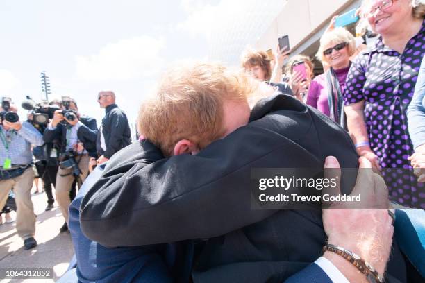
{"label": "group of photographers and bald man standing at the left", "polygon": [[[31,201],[35,173],[42,180],[47,196],[46,211],[53,208],[54,187],[56,202],[65,218],[60,232],[65,232],[68,207],[76,196],[76,187],[81,187],[94,166],[108,161],[131,143],[128,120],[115,104],[114,92],[99,92],[97,101],[106,111],[100,128],[96,119],[78,112],[77,102],[69,97],[45,101],[38,105],[38,110],[30,112],[24,122],[8,119],[8,113],[17,116],[17,108],[10,99],[2,100],[0,206],[6,214],[6,222],[13,220],[9,215],[11,207],[16,210],[16,230],[24,240],[25,249],[37,246]],[[41,115],[46,119],[37,118]]]}

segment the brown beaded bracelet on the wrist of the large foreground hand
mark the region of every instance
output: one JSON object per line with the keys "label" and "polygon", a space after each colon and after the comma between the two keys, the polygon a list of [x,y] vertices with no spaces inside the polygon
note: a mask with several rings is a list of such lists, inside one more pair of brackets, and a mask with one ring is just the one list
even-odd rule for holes
{"label": "brown beaded bracelet on the wrist of the large foreground hand", "polygon": [[367,261],[361,259],[361,257],[356,255],[354,252],[339,246],[331,245],[330,243],[323,247],[323,252],[326,251],[335,252],[335,254],[344,257],[344,259],[347,259],[347,261],[353,264],[353,266],[355,266],[361,273],[366,275],[367,281],[372,283],[383,282],[383,277],[378,275],[378,271],[376,271],[373,266],[371,266]]}

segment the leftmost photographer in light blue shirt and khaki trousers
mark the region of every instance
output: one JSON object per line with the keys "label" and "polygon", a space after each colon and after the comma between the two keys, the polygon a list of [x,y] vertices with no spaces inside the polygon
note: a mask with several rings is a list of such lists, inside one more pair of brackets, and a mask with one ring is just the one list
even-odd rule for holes
{"label": "leftmost photographer in light blue shirt and khaki trousers", "polygon": [[28,250],[37,246],[31,201],[34,180],[31,144],[41,146],[44,141],[31,123],[19,121],[17,109],[10,102],[10,98],[3,98],[0,108],[0,207],[5,205],[13,189],[17,205],[16,230]]}

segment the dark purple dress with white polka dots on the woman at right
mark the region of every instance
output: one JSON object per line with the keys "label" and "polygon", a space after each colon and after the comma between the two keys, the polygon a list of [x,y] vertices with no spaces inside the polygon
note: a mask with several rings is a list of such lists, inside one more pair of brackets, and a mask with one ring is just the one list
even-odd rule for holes
{"label": "dark purple dress with white polka dots on the woman at right", "polygon": [[358,55],[349,70],[343,94],[345,105],[365,101],[369,143],[380,159],[390,198],[422,208],[425,208],[425,186],[417,183],[407,160],[413,146],[406,110],[425,53],[424,23],[403,53],[385,46],[380,37],[372,48]]}

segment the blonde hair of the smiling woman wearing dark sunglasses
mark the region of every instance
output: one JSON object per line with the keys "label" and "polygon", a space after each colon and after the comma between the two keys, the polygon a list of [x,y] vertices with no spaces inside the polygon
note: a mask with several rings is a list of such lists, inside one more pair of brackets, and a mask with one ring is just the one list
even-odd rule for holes
{"label": "blonde hair of the smiling woman wearing dark sunglasses", "polygon": [[322,62],[328,63],[328,61],[326,60],[326,56],[323,55],[323,51],[325,46],[327,46],[328,44],[332,42],[335,42],[336,44],[347,42],[349,56],[353,55],[354,52],[356,52],[356,39],[345,28],[339,27],[339,28],[333,29],[332,31],[328,31],[327,33],[324,33],[322,35],[322,37],[320,38],[319,50],[317,51],[317,54],[316,54],[317,59],[319,59]]}

